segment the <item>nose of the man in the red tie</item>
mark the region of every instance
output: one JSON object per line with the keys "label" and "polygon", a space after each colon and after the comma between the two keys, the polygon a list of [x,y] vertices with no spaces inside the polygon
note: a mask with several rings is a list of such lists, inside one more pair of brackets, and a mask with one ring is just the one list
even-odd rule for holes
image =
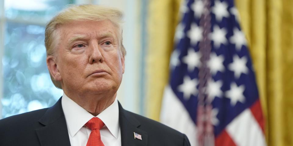
{"label": "nose of the man in the red tie", "polygon": [[89,51],[89,64],[93,64],[95,62],[104,62],[104,57],[102,54],[102,50],[99,47],[99,44],[92,44]]}

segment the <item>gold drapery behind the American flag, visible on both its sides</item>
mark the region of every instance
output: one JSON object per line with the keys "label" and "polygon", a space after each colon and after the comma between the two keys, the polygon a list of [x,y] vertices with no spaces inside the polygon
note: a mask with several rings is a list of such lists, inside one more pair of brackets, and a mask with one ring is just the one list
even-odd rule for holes
{"label": "gold drapery behind the American flag, visible on both its sides", "polygon": [[[180,0],[150,0],[147,116],[159,120]],[[293,0],[235,0],[248,39],[269,146],[293,145]]]}

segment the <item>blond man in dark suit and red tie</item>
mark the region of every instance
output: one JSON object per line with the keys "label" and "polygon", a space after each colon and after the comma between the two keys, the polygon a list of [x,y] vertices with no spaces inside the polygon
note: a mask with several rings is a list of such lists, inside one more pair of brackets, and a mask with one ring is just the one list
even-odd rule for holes
{"label": "blond man in dark suit and red tie", "polygon": [[47,66],[57,103],[0,120],[0,145],[187,146],[187,137],[128,112],[116,99],[124,73],[122,13],[72,5],[46,26]]}

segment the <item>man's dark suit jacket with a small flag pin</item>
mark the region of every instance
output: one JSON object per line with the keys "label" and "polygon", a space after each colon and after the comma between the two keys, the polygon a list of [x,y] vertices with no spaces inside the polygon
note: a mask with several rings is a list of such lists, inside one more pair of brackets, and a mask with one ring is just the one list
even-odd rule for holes
{"label": "man's dark suit jacket with a small flag pin", "polygon": [[[120,103],[119,122],[122,146],[190,146],[185,134],[126,111]],[[70,146],[61,98],[50,108],[0,120],[0,146]]]}

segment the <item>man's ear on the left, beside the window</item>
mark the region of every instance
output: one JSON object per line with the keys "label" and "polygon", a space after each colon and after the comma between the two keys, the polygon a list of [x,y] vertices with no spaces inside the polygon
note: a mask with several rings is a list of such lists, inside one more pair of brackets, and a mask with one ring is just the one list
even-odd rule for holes
{"label": "man's ear on the left, beside the window", "polygon": [[58,70],[57,67],[57,62],[56,62],[56,57],[54,56],[48,56],[47,57],[47,67],[49,69],[50,75],[52,76],[52,78],[54,78],[54,80],[56,81],[61,81],[61,75],[60,75],[60,71]]}

